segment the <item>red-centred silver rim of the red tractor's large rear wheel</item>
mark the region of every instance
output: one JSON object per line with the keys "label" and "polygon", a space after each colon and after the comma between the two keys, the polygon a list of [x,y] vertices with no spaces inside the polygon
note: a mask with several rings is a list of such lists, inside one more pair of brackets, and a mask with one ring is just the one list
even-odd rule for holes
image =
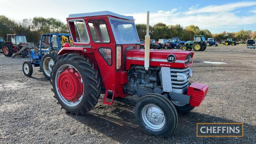
{"label": "red-centred silver rim of the red tractor's large rear wheel", "polygon": [[58,77],[58,88],[60,94],[72,102],[78,101],[83,95],[83,82],[80,74],[75,70],[68,68]]}

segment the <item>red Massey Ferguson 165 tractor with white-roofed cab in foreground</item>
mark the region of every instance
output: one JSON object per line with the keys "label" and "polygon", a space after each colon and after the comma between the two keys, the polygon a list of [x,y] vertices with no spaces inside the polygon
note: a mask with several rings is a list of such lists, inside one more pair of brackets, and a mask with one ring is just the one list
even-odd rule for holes
{"label": "red Massey Ferguson 165 tractor with white-roofed cab in foreground", "polygon": [[68,27],[75,47],[64,46],[52,67],[52,91],[67,113],[85,114],[115,98],[140,97],[135,118],[147,134],[166,137],[177,126],[177,111],[200,105],[208,86],[189,83],[193,52],[150,50],[149,12],[145,49],[132,16],[109,11],[71,14]]}

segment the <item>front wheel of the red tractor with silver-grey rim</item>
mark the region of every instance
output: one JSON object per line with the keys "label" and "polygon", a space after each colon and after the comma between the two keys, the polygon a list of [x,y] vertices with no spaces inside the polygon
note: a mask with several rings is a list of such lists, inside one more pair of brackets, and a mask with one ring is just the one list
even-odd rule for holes
{"label": "front wheel of the red tractor with silver-grey rim", "polygon": [[177,126],[178,115],[172,102],[160,94],[146,94],[135,105],[135,118],[147,134],[166,137]]}

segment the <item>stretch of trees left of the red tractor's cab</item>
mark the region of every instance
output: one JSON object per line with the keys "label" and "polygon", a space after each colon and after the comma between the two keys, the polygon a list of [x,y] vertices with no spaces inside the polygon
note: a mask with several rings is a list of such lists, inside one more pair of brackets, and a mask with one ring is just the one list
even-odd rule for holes
{"label": "stretch of trees left of the red tractor's cab", "polygon": [[7,34],[25,34],[27,42],[35,44],[44,33],[69,33],[67,24],[55,18],[34,17],[14,21],[4,15],[0,15],[0,37],[6,41]]}

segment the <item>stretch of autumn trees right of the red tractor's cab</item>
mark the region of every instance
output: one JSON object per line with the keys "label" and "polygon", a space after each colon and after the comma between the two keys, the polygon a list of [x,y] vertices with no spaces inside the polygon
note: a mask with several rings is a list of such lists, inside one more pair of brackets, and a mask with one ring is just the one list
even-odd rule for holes
{"label": "stretch of autumn trees right of the red tractor's cab", "polygon": [[[139,38],[144,39],[146,35],[146,24],[136,24],[136,29],[139,34]],[[252,33],[251,30],[240,30],[238,32],[226,32],[212,34],[207,29],[199,29],[198,26],[190,25],[183,27],[180,24],[167,26],[164,23],[157,23],[154,26],[149,26],[149,33],[151,39],[169,39],[172,37],[179,37],[183,41],[193,40],[194,35],[204,35],[207,38],[214,38],[217,41],[221,41],[227,38],[233,38],[235,41],[246,41],[250,38],[256,38],[256,31]]]}

